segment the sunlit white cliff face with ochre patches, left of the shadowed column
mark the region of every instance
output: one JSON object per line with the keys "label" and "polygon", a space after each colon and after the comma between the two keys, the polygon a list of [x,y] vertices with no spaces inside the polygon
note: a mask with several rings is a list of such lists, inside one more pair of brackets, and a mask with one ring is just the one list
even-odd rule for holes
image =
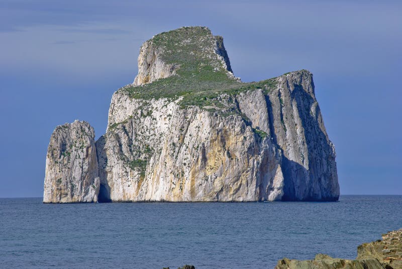
{"label": "sunlit white cliff face with ochre patches, left of the shadowed column", "polygon": [[121,123],[96,142],[106,200],[280,200],[280,152],[240,116],[127,98],[115,93],[109,118]]}

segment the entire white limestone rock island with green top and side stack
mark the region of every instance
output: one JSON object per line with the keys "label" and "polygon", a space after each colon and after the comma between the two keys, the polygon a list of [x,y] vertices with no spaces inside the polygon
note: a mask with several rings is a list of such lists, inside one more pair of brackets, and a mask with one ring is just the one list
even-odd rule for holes
{"label": "entire white limestone rock island with green top and side stack", "polygon": [[86,122],[56,127],[43,201],[336,201],[314,91],[307,70],[241,82],[206,27],[158,34],[95,146]]}

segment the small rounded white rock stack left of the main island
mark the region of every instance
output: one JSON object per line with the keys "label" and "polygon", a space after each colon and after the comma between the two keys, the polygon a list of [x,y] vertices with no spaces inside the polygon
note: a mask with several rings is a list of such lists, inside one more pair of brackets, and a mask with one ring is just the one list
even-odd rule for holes
{"label": "small rounded white rock stack left of the main island", "polygon": [[46,156],[44,203],[96,202],[99,192],[95,133],[75,120],[57,126]]}

